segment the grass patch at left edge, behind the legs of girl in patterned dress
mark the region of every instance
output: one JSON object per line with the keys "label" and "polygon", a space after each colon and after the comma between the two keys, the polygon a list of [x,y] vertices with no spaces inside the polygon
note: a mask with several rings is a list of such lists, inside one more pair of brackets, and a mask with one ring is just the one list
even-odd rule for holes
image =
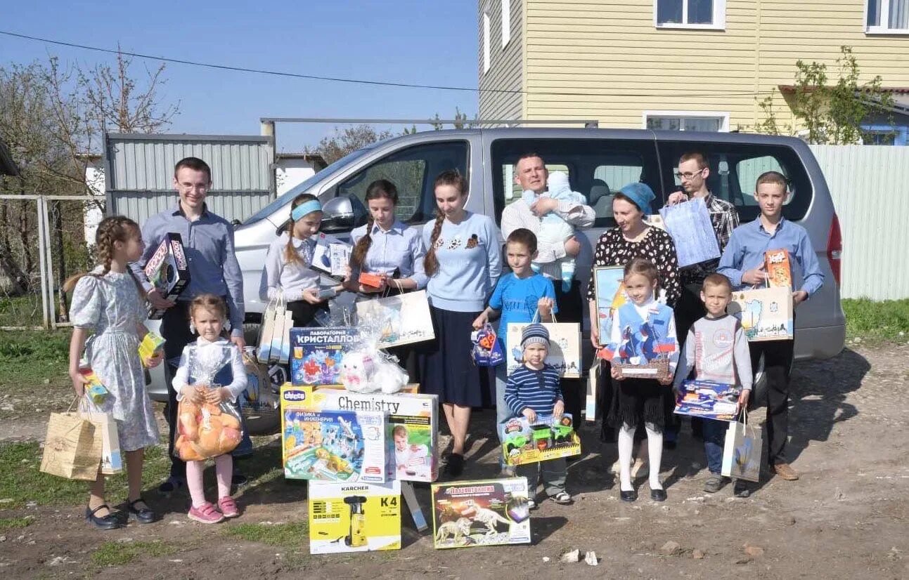
{"label": "grass patch at left edge, behind the legs of girl in patterned dress", "polygon": [[[39,471],[44,450],[35,441],[0,445],[0,498],[13,501],[2,504],[15,509],[34,501],[38,506],[74,506],[88,499],[85,481],[49,476]],[[156,486],[170,470],[167,447],[145,450],[142,480],[146,489]],[[105,495],[113,506],[126,498],[126,474],[107,477]]]}

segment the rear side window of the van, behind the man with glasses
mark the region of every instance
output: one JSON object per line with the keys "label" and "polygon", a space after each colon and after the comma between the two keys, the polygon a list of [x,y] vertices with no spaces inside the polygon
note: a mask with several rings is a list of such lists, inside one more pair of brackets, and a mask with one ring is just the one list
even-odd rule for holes
{"label": "rear side window of the van, behind the man with glasses", "polygon": [[664,141],[659,148],[667,192],[682,189],[675,177],[679,157],[684,152],[703,152],[710,166],[707,188],[720,199],[733,202],[743,222],[754,220],[760,213],[754,201],[754,183],[764,172],[781,172],[790,180],[791,195],[783,208],[787,220],[801,220],[811,205],[814,190],[804,163],[798,153],[785,145]]}

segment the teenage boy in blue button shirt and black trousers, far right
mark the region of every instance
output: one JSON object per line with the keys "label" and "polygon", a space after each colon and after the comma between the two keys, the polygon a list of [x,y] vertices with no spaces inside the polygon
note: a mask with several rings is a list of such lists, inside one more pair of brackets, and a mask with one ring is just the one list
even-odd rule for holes
{"label": "teenage boy in blue button shirt and black trousers, far right", "polygon": [[[805,229],[783,217],[783,206],[789,197],[788,180],[779,172],[765,172],[757,178],[754,199],[761,215],[733,231],[720,258],[718,272],[732,281],[735,290],[748,287],[763,288],[767,280],[764,253],[785,250],[798,264],[802,286],[793,292],[793,304],[798,306],[824,285],[824,273],[817,261],[811,240]],[[795,274],[795,272],[793,272]],[[797,280],[793,275],[793,283]],[[768,459],[776,475],[794,481],[798,474],[785,456],[789,428],[789,370],[792,367],[794,340],[750,342],[752,369],[764,356],[764,375],[767,380],[767,444]]]}

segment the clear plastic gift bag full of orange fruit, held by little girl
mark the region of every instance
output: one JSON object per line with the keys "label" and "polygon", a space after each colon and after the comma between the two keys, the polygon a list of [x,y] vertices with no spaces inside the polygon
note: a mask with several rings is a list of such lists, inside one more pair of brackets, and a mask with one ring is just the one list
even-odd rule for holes
{"label": "clear plastic gift bag full of orange fruit, held by little girl", "polygon": [[[189,384],[206,392],[230,378],[232,344],[190,345],[185,349]],[[239,410],[228,401],[196,404],[189,398],[177,407],[174,454],[184,461],[202,461],[230,453],[243,438]]]}

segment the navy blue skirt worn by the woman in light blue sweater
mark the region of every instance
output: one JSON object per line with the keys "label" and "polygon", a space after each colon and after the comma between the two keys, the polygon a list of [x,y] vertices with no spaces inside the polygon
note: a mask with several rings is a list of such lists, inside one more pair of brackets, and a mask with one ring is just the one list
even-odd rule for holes
{"label": "navy blue skirt worn by the woman in light blue sweater", "polygon": [[420,392],[439,396],[442,403],[490,407],[494,369],[477,367],[471,359],[470,333],[480,312],[454,312],[429,307],[435,340],[417,345]]}

